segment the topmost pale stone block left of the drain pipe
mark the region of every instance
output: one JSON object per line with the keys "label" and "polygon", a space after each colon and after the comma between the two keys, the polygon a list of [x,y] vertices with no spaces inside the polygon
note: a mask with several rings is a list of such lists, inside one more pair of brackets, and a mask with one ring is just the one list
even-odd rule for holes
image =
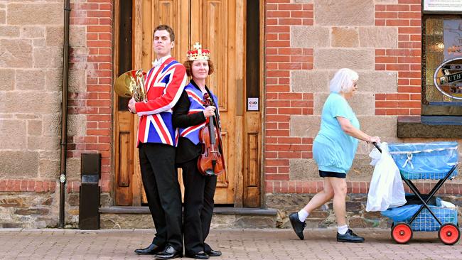
{"label": "topmost pale stone block left of the drain pipe", "polygon": [[36,25],[61,24],[63,22],[63,4],[9,4],[6,6],[9,24]]}

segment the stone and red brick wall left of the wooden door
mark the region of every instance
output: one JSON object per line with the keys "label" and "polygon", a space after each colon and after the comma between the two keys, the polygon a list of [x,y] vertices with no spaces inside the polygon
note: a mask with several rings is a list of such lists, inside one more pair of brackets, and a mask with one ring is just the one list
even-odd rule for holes
{"label": "stone and red brick wall left of the wooden door", "polygon": [[[0,227],[58,224],[63,2],[0,2]],[[71,9],[65,222],[75,226],[81,153],[102,153],[110,200],[112,0]]]}

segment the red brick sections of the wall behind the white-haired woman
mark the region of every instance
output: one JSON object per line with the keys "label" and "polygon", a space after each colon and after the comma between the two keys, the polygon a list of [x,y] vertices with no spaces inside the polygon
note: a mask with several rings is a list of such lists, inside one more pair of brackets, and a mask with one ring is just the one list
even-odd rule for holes
{"label": "red brick sections of the wall behind the white-haired woman", "polygon": [[[291,48],[291,26],[316,24],[313,4],[266,1],[264,185],[266,193],[316,193],[319,181],[289,179],[289,160],[312,158],[313,138],[290,136],[291,115],[313,114],[313,93],[291,92],[290,72],[313,69],[312,48]],[[376,4],[375,26],[398,30],[396,49],[375,50],[375,70],[397,72],[397,93],[376,93],[376,115],[419,115],[421,106],[421,1]],[[314,137],[314,136],[313,136]],[[368,183],[348,182],[365,193]],[[452,190],[452,189],[451,189]],[[449,190],[448,190],[449,191]]]}

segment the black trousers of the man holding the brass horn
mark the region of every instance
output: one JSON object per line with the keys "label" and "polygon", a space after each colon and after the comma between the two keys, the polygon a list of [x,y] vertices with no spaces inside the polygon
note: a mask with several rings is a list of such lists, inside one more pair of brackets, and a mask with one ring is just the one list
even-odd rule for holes
{"label": "black trousers of the man holding the brass horn", "polygon": [[183,251],[181,235],[181,191],[175,167],[175,147],[141,143],[139,165],[156,236],[154,244],[170,244]]}

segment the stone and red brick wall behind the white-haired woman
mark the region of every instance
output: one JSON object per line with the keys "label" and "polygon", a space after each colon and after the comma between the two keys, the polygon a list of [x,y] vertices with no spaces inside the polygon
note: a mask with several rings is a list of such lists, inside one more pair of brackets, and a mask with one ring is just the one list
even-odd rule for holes
{"label": "stone and red brick wall behind the white-haired woman", "polygon": [[[363,131],[388,142],[434,141],[397,139],[397,116],[420,114],[421,1],[267,0],[265,8],[267,195],[322,190],[311,148],[341,67],[360,75],[349,102]],[[367,193],[370,149],[360,142],[349,193]],[[441,192],[459,194],[458,185]]]}

